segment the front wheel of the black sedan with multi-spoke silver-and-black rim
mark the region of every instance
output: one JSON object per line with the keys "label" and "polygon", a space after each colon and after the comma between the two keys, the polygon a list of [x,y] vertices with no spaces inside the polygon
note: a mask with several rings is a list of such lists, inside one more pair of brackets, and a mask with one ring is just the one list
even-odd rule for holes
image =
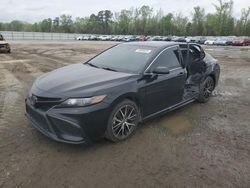
{"label": "front wheel of the black sedan with multi-spoke silver-and-black rim", "polygon": [[133,101],[122,101],[110,114],[105,137],[112,142],[126,140],[135,131],[139,117],[139,109]]}

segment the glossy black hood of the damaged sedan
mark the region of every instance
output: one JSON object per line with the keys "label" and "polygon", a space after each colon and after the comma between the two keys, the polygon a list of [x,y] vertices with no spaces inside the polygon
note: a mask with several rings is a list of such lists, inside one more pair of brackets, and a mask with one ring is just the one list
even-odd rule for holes
{"label": "glossy black hood of the damaged sedan", "polygon": [[42,97],[87,97],[96,93],[104,94],[102,92],[121,84],[131,76],[133,74],[74,64],[42,75],[35,81],[33,89],[36,87],[34,94]]}

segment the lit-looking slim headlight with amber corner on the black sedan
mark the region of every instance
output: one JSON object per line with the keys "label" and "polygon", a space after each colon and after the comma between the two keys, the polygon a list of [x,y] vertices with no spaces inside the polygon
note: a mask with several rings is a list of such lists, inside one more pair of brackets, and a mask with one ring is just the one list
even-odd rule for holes
{"label": "lit-looking slim headlight with amber corner on the black sedan", "polygon": [[106,95],[100,95],[95,97],[89,98],[72,98],[67,99],[66,101],[62,102],[59,106],[60,107],[82,107],[82,106],[89,106],[93,104],[97,104],[106,97]]}

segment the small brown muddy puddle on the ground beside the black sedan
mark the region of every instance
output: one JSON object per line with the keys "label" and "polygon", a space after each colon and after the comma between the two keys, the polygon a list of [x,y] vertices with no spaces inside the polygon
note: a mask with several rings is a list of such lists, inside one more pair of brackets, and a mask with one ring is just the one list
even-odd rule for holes
{"label": "small brown muddy puddle on the ground beside the black sedan", "polygon": [[193,127],[186,116],[166,116],[160,119],[160,125],[173,135],[179,135],[190,131]]}

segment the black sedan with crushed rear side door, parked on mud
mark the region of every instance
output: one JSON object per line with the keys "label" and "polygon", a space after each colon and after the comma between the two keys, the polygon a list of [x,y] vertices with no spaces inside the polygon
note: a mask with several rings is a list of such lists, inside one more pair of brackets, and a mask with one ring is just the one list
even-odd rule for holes
{"label": "black sedan with crushed rear side door, parked on mud", "polygon": [[193,101],[207,102],[219,74],[217,60],[198,44],[119,44],[85,64],[35,80],[25,100],[26,116],[57,141],[119,142],[140,122]]}

